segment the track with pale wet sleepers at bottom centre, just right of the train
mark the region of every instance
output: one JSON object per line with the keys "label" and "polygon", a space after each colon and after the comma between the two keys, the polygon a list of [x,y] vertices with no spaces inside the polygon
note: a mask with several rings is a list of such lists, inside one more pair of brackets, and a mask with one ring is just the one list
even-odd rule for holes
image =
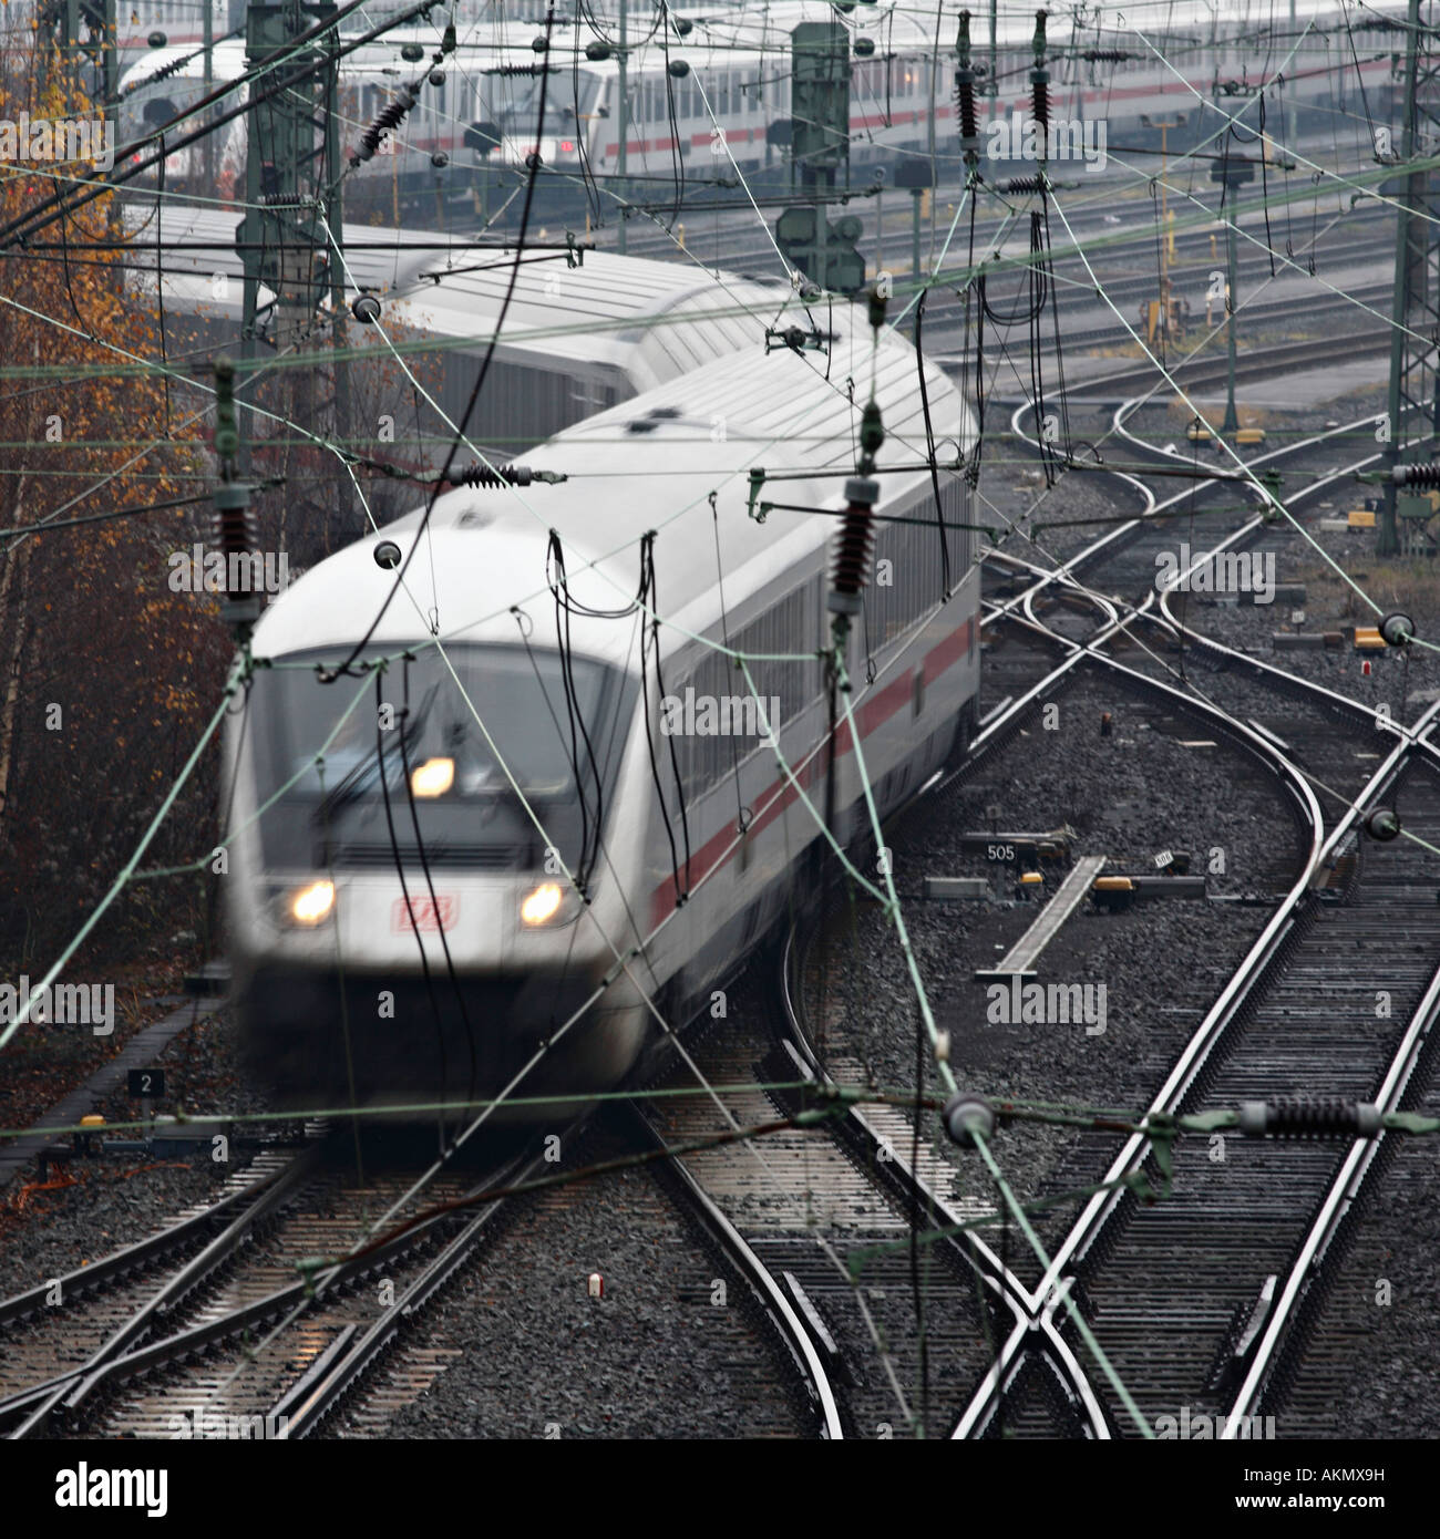
{"label": "track with pale wet sleepers at bottom centre, just right of the train", "polygon": [[[727,1030],[688,1048],[688,1065],[702,1085],[756,1088],[639,1103],[638,1116],[658,1143],[675,1147],[713,1133],[718,1105],[722,1127],[762,1125],[825,1105],[833,1080],[813,1057],[795,1003],[796,956],[785,948],[775,996],[759,990],[733,996],[738,1008]],[[858,1065],[836,1068],[849,1077]],[[688,1077],[679,1068],[673,1073]],[[796,1077],[807,1082],[799,1094],[759,1088]],[[678,1160],[685,1187],[708,1210],[707,1222],[753,1257],[747,1264],[752,1282],[805,1364],[812,1393],[825,1410],[825,1436],[915,1434],[924,1422],[926,1380],[929,1405],[944,1407],[953,1385],[983,1360],[992,1316],[1029,1319],[1033,1300],[1018,1276],[984,1242],[952,1236],[933,1254],[926,1248],[921,1334],[910,1225],[916,1216],[952,1227],[964,1220],[944,1194],[947,1167],[926,1150],[916,1168],[910,1136],[910,1123],[893,1108],[866,1105],[846,1110],[829,1130],[787,1130]],[[862,1257],[862,1265],[852,1276],[853,1257]],[[1072,1351],[1055,1336],[1047,1340],[1057,1385],[1049,1425],[1060,1416],[1066,1433],[1109,1436]],[[932,1424],[947,1424],[949,1416],[949,1410],[932,1411]]]}

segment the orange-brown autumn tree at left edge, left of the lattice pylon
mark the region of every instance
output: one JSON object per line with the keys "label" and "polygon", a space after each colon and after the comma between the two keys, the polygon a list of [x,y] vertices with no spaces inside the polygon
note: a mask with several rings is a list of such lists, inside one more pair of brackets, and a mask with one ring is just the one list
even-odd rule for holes
{"label": "orange-brown autumn tree at left edge, left of the lattice pylon", "polygon": [[[6,46],[0,117],[97,114],[59,62]],[[85,168],[0,165],[0,229]],[[62,180],[57,180],[62,179]],[[48,962],[108,890],[214,713],[233,646],[168,556],[208,532],[206,420],[146,365],[157,317],[126,297],[114,194],[0,249],[0,966]],[[140,360],[137,363],[137,360]],[[189,406],[189,409],[186,409]],[[60,520],[200,497],[191,508]],[[143,865],[214,843],[216,766]],[[203,879],[132,885],[99,954],[200,931]],[[6,971],[5,976],[9,976]]]}

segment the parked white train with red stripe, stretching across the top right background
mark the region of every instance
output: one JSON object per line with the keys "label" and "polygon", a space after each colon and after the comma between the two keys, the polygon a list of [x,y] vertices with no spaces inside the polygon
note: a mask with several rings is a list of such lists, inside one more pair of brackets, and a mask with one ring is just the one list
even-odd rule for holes
{"label": "parked white train with red stripe, stretching across the top right background", "polygon": [[[959,3],[927,11],[776,0],[732,11],[678,8],[667,29],[631,22],[630,42],[638,32],[641,46],[627,55],[625,171],[664,177],[676,154],[690,157],[693,175],[724,171],[732,160],[747,174],[784,169],[793,114],[792,31],[802,22],[833,20],[849,43],[850,160],[899,168],[933,155],[943,179],[958,180],[958,18],[963,11],[970,15],[978,128],[983,152],[990,152],[1000,142],[992,125],[1009,129],[1015,114],[1032,109],[1036,9],[1012,5],[990,17],[983,6]],[[1050,8],[1050,115],[1077,126],[1104,123],[1106,137],[1124,149],[1160,148],[1161,123],[1170,129],[1169,148],[1184,149],[1223,135],[1227,119],[1246,139],[1260,128],[1284,140],[1335,126],[1349,148],[1357,131],[1368,140],[1368,129],[1392,126],[1403,18],[1403,9],[1389,5],[1357,22],[1337,0],[1295,0],[1288,12],[1269,0]],[[537,91],[527,92],[505,119],[501,159],[519,163],[537,149],[556,168],[578,172],[584,159],[594,171],[616,172],[619,60],[615,51],[587,60],[585,46],[584,37],[567,34],[544,55],[553,60],[548,100],[564,123],[547,111],[548,126],[536,135]],[[581,132],[570,132],[571,122]]]}

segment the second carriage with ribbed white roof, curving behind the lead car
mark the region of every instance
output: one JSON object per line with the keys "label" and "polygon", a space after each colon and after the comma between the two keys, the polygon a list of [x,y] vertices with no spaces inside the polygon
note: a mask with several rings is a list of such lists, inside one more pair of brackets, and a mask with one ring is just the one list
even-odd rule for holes
{"label": "second carriage with ribbed white roof, curving behind the lead car", "polygon": [[[140,197],[126,205],[125,223],[126,288],[137,302],[152,312],[163,291],[169,323],[179,317],[193,328],[189,345],[234,349],[243,312],[234,212]],[[343,226],[343,242],[347,300],[357,292],[380,300],[379,328],[351,323],[348,331],[353,346],[373,352],[370,363],[356,365],[356,380],[363,385],[365,368],[388,372],[391,386],[377,385],[367,402],[400,423],[400,442],[419,437],[433,449],[448,446],[453,425],[464,419],[491,340],[490,380],[467,437],[510,457],[750,346],[762,323],[804,320],[789,285],[693,263],[587,251],[581,265],[570,266],[564,252],[536,252],[516,271],[493,246],[462,237],[354,223]],[[260,289],[262,302],[271,297]],[[847,328],[849,306],[838,306],[836,317],[833,325]],[[410,388],[380,331],[405,346],[439,409]],[[427,342],[433,351],[416,351]]]}

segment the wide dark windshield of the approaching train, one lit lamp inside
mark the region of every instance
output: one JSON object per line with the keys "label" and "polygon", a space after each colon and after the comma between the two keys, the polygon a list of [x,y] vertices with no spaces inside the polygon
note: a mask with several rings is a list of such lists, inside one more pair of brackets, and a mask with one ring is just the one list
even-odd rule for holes
{"label": "wide dark windshield of the approaching train, one lit lamp inside", "polygon": [[565,854],[598,796],[608,802],[625,736],[615,669],[584,657],[567,669],[539,648],[417,646],[377,693],[374,674],[322,683],[316,665],[337,660],[302,653],[256,676],[257,799],[277,799],[262,816],[268,860],[297,843],[337,863],[391,856],[391,825],[413,851],[419,823],[436,859],[524,866],[536,845]]}

